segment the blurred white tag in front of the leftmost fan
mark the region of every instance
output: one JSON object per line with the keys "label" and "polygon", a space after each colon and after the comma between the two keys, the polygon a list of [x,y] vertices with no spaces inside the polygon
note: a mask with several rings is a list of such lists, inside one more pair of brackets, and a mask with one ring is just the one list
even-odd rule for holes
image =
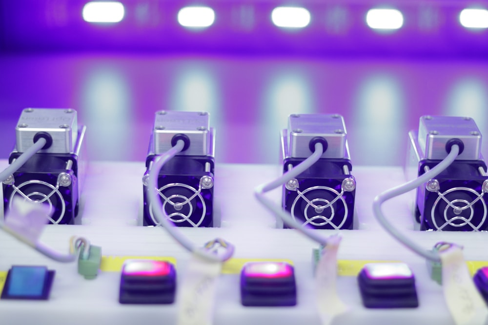
{"label": "blurred white tag in front of the leftmost fan", "polygon": [[22,240],[36,243],[41,237],[42,229],[47,224],[49,208],[44,204],[32,203],[15,197],[5,227]]}

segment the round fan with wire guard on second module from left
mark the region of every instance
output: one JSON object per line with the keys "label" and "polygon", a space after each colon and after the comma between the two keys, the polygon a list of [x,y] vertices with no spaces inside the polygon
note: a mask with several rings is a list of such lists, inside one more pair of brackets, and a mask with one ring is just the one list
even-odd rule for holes
{"label": "round fan with wire guard on second module from left", "polygon": [[[171,183],[158,189],[158,192],[163,202],[163,209],[168,215],[168,220],[175,224],[187,221],[193,227],[199,227],[202,224],[207,208],[198,190],[183,183]],[[195,197],[188,201],[193,195]],[[186,203],[178,204],[184,202]],[[160,223],[153,214],[152,204],[149,205],[149,215],[154,225],[159,226]]]}

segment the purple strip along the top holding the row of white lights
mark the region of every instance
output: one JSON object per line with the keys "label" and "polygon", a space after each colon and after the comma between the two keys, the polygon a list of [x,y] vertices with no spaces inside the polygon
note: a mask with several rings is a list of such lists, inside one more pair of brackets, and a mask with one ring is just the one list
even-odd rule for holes
{"label": "purple strip along the top holding the row of white lights", "polygon": [[[11,52],[482,58],[488,54],[483,24],[472,28],[460,24],[467,14],[484,17],[485,9],[468,11],[456,1],[394,1],[395,9],[378,8],[377,0],[307,1],[306,8],[284,6],[278,0],[207,0],[204,6],[185,6],[177,0],[87,2],[0,1],[0,12],[9,13],[2,20],[1,46]],[[108,4],[118,9],[102,10]],[[93,11],[90,15],[88,9]],[[115,12],[117,19],[106,17]],[[471,24],[475,21],[470,19]]]}

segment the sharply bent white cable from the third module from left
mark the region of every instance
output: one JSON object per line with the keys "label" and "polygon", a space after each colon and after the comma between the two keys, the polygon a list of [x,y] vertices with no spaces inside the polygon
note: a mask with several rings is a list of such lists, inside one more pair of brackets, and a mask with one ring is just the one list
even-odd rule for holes
{"label": "sharply bent white cable from the third module from left", "polygon": [[286,226],[299,230],[305,236],[325,246],[327,244],[327,239],[325,237],[320,236],[317,231],[313,231],[303,227],[301,224],[299,224],[291,217],[289,212],[283,210],[282,207],[275,205],[273,201],[269,200],[264,196],[264,193],[274,190],[280,186],[283,186],[289,180],[300,175],[302,172],[305,172],[307,169],[309,169],[313,164],[315,164],[320,159],[323,153],[324,153],[324,147],[322,146],[322,144],[316,143],[315,151],[308,158],[306,158],[304,161],[302,161],[300,164],[295,166],[290,171],[285,172],[281,177],[277,178],[276,180],[256,187],[256,189],[254,190],[254,195],[256,196],[258,201],[264,205],[264,207],[266,207],[268,210],[270,210],[271,212],[279,216],[283,220]]}

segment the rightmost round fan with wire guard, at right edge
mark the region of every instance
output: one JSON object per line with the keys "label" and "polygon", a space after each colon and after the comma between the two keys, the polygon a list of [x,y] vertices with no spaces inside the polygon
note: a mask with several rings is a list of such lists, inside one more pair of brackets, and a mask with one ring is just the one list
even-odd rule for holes
{"label": "rightmost round fan with wire guard, at right edge", "polygon": [[450,205],[440,195],[435,200],[430,210],[434,230],[485,230],[482,227],[487,219],[485,200],[481,198],[465,208],[479,196],[477,191],[467,187],[455,187],[441,194]]}

